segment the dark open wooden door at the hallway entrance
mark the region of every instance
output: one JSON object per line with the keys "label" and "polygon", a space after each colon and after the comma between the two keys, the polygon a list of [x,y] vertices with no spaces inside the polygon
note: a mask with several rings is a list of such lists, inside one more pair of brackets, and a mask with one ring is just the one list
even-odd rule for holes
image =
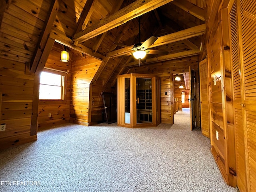
{"label": "dark open wooden door at the hallway entrance", "polygon": [[191,69],[191,67],[189,67],[189,72],[190,72],[190,82],[191,82],[191,86],[190,86],[190,127],[191,130],[193,130],[194,128],[196,128],[196,120],[195,120],[195,116],[196,116],[196,111],[195,111],[195,74],[193,72],[193,70]]}

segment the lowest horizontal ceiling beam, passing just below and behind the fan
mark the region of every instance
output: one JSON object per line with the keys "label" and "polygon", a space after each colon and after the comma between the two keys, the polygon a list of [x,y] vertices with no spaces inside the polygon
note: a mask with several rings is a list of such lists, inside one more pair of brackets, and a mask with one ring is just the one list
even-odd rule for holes
{"label": "lowest horizontal ceiling beam, passing just below and behind the fan", "polygon": [[[145,65],[145,64],[155,63],[155,62],[162,62],[162,61],[172,60],[172,59],[178,59],[178,58],[182,58],[182,57],[194,56],[194,55],[198,55],[199,53],[200,53],[200,49],[183,51],[183,52],[179,52],[179,53],[173,53],[173,54],[169,54],[169,55],[146,59],[146,62],[141,63],[140,65]],[[139,61],[136,60],[135,62],[128,63],[126,65],[126,67],[136,66],[136,65],[138,65],[138,63],[139,63]]]}

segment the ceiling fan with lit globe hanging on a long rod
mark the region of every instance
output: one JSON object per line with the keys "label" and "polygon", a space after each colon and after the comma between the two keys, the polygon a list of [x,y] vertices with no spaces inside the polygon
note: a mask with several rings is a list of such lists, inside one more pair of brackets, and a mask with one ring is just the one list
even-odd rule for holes
{"label": "ceiling fan with lit globe hanging on a long rod", "polygon": [[135,44],[133,47],[127,46],[124,44],[120,44],[120,43],[115,43],[115,44],[122,46],[122,47],[131,48],[132,50],[134,50],[132,55],[134,56],[134,58],[139,60],[139,66],[140,66],[140,61],[146,56],[146,54],[162,54],[162,55],[168,54],[167,51],[148,49],[156,40],[157,40],[157,37],[151,36],[144,43],[141,43],[141,41],[140,41],[140,17],[139,17],[139,43]]}

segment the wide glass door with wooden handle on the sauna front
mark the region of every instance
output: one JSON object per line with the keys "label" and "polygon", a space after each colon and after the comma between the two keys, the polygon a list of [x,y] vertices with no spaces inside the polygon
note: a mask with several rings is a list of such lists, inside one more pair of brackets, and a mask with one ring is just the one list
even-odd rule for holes
{"label": "wide glass door with wooden handle on the sauna front", "polygon": [[152,123],[152,78],[136,78],[137,124]]}

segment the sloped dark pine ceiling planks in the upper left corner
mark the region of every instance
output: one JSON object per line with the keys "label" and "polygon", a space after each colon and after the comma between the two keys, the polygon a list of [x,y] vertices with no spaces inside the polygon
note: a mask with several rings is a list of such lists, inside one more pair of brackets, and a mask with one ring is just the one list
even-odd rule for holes
{"label": "sloped dark pine ceiling planks in the upper left corner", "polygon": [[10,1],[1,23],[0,58],[30,62],[49,7],[49,0]]}

